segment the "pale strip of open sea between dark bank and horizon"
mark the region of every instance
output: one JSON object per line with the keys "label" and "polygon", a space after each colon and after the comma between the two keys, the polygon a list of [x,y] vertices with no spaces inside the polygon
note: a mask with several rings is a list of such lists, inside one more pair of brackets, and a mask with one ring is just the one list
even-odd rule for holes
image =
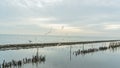
{"label": "pale strip of open sea between dark bank and horizon", "polygon": [[46,43],[46,42],[67,42],[67,41],[92,41],[92,40],[116,40],[119,37],[89,37],[89,36],[48,36],[48,35],[5,35],[0,34],[0,44],[23,44]]}

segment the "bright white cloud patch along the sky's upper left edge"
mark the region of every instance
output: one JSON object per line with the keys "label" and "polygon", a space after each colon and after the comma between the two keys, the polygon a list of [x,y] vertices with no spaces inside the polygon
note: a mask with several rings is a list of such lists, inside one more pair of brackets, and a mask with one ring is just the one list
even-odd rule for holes
{"label": "bright white cloud patch along the sky's upper left edge", "polygon": [[6,4],[9,4],[13,7],[22,7],[22,8],[43,8],[44,6],[51,6],[62,0],[5,0]]}

